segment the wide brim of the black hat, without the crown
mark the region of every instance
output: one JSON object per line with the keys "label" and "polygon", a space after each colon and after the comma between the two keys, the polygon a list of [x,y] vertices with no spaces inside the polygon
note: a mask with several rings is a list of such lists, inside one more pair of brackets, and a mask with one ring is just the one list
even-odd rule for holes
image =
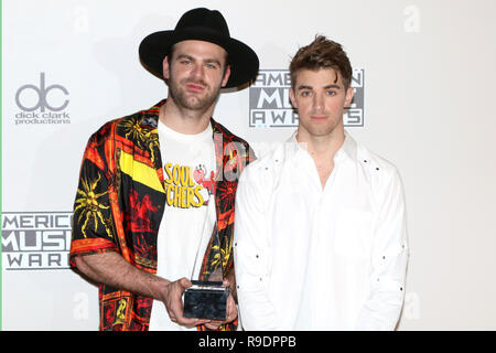
{"label": "wide brim of the black hat, without the crown", "polygon": [[188,28],[180,31],[160,31],[143,39],[139,55],[143,66],[159,78],[163,77],[163,60],[171,47],[186,40],[205,41],[224,47],[228,55],[230,75],[224,88],[239,87],[255,81],[258,74],[259,60],[255,51],[245,43],[233,38],[218,35],[205,28]]}

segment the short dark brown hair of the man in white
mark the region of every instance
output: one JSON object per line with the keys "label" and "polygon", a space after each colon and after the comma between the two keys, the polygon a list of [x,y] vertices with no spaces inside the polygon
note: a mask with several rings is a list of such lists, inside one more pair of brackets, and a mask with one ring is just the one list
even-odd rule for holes
{"label": "short dark brown hair of the man in white", "polygon": [[[294,89],[299,69],[334,68],[341,73],[347,89],[352,83],[352,64],[339,43],[315,35],[315,40],[300,47],[290,63],[291,87]],[[336,78],[337,79],[337,78]]]}

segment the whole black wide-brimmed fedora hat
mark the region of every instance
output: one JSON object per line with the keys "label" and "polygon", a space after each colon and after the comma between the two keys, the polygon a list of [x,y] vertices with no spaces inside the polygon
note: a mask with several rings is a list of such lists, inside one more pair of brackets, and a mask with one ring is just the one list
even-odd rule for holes
{"label": "whole black wide-brimmed fedora hat", "polygon": [[230,38],[220,12],[205,8],[184,13],[173,31],[160,31],[144,38],[139,49],[141,63],[153,75],[163,79],[162,62],[165,55],[175,43],[186,40],[211,42],[226,50],[230,76],[225,88],[241,86],[257,77],[257,54],[245,43]]}

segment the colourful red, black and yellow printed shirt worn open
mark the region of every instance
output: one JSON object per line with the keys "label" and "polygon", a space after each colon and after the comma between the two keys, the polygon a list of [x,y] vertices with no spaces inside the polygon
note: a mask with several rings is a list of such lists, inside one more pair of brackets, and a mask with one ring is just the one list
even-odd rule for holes
{"label": "colourful red, black and yellow printed shirt worn open", "polygon": [[[157,237],[165,205],[157,127],[164,103],[109,121],[90,137],[74,204],[73,268],[76,256],[117,252],[136,267],[157,274]],[[203,278],[218,266],[226,275],[233,266],[237,181],[255,158],[246,141],[213,119],[211,124],[217,161],[214,193],[218,237],[212,237],[205,253]],[[152,298],[100,284],[100,330],[148,330],[152,302]],[[233,330],[236,324],[220,329]]]}

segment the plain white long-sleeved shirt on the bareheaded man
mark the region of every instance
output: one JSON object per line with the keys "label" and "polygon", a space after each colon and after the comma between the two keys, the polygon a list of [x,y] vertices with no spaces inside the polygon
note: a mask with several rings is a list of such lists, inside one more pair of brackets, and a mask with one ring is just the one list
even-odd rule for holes
{"label": "plain white long-sleeved shirt on the bareheaded man", "polygon": [[345,135],[324,188],[295,135],[241,174],[234,255],[245,330],[395,329],[408,261],[401,180]]}

